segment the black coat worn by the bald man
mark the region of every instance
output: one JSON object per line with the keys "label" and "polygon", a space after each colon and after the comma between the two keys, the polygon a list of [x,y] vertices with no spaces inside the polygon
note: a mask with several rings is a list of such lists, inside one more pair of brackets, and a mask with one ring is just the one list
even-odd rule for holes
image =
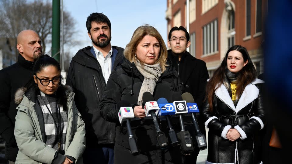
{"label": "black coat worn by the bald man", "polygon": [[33,62],[18,55],[17,63],[0,70],[0,135],[5,140],[5,158],[15,161],[18,147],[14,137],[17,114],[14,94],[33,79]]}

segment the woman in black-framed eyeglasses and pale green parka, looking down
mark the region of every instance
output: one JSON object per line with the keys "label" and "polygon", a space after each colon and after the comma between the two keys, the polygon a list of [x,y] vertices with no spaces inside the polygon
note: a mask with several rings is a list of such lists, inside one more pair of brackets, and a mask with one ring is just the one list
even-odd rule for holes
{"label": "woman in black-framed eyeglasses and pale green parka, looking down", "polygon": [[59,63],[40,56],[28,88],[16,91],[19,104],[14,135],[19,148],[15,163],[83,163],[84,122],[74,93],[62,85]]}

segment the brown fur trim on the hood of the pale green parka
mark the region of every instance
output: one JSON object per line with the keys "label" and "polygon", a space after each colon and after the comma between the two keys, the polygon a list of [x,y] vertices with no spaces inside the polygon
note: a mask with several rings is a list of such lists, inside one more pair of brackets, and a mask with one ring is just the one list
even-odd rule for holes
{"label": "brown fur trim on the hood of the pale green parka", "polygon": [[[68,93],[72,91],[73,91],[72,87],[68,85],[59,86],[56,93],[59,100],[58,101],[59,105],[62,105],[62,106],[65,105],[65,103],[67,102]],[[26,96],[31,101],[35,102],[36,96],[37,96],[35,95],[35,93],[36,91],[34,91],[34,89],[28,90],[26,87],[21,87],[17,89],[15,92],[14,102],[16,104],[20,104],[24,96]]]}

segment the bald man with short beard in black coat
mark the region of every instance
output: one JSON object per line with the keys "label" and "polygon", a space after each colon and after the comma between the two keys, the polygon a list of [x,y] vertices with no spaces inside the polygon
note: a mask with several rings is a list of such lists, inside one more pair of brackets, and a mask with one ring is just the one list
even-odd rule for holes
{"label": "bald man with short beard in black coat", "polygon": [[[5,158],[14,163],[18,148],[14,137],[15,91],[33,78],[33,61],[42,54],[41,39],[33,30],[24,30],[17,36],[17,63],[0,70],[0,135],[5,140]],[[29,148],[27,148],[29,149]]]}

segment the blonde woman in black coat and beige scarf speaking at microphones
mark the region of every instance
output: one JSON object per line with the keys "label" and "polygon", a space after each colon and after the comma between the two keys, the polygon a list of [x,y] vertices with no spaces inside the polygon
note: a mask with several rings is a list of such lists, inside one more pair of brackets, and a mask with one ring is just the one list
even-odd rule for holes
{"label": "blonde woman in black coat and beige scarf speaking at microphones", "polygon": [[[179,91],[177,72],[167,61],[167,49],[159,32],[152,26],[138,27],[127,44],[120,66],[111,73],[100,103],[100,115],[107,121],[118,122],[117,103],[128,101],[136,118],[144,118],[142,97],[150,92],[157,100],[169,98]],[[116,124],[114,163],[182,163],[179,153],[170,155],[156,146],[155,128],[151,119],[131,121],[139,155],[130,154],[129,135],[125,125]]]}

